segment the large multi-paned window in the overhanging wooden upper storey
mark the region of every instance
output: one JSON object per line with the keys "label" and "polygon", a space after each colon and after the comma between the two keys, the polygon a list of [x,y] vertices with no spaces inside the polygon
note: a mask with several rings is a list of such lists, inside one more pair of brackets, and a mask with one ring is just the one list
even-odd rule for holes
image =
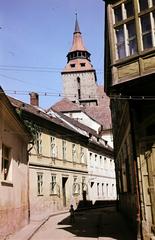
{"label": "large multi-paned window in the overhanging wooden upper storey", "polygon": [[139,51],[155,47],[154,7],[155,0],[126,0],[113,7],[116,60],[136,54],[138,45]]}

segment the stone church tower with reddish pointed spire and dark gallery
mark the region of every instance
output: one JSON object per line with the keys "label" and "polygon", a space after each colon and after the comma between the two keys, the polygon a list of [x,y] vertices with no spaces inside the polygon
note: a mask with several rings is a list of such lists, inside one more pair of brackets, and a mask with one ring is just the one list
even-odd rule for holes
{"label": "stone church tower with reddish pointed spire and dark gallery", "polygon": [[83,106],[98,105],[96,71],[91,64],[90,53],[84,46],[77,15],[72,47],[61,75],[64,97]]}

